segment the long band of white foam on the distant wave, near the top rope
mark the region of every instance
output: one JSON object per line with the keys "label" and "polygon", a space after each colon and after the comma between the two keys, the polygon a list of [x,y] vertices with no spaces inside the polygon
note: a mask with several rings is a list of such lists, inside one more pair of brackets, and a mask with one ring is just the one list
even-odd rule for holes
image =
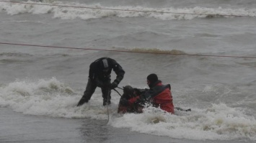
{"label": "long band of white foam on the distant wave, near the top rope", "polygon": [[[227,8],[149,8],[142,6],[101,6],[100,4],[63,3],[53,1],[41,3],[27,1],[30,4],[0,2],[0,10],[7,14],[53,14],[53,18],[61,19],[97,19],[103,17],[153,17],[156,19],[194,19],[200,17],[256,17],[256,9]],[[46,5],[40,5],[46,4]],[[58,6],[52,6],[58,5]],[[74,7],[72,7],[74,6]]]}

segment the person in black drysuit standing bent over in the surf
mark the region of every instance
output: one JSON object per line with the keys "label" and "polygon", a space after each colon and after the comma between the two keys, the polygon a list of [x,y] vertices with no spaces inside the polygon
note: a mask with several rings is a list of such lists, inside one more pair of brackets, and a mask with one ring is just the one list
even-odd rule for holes
{"label": "person in black drysuit standing bent over in the surf", "polygon": [[[110,75],[112,70],[114,70],[117,76],[115,80],[110,83]],[[81,97],[77,106],[87,103],[97,87],[100,87],[102,90],[103,106],[110,104],[111,89],[118,87],[118,84],[121,80],[123,80],[124,75],[125,71],[123,68],[112,58],[101,57],[100,59],[95,60],[89,66],[89,79],[87,87],[84,91],[84,96]]]}

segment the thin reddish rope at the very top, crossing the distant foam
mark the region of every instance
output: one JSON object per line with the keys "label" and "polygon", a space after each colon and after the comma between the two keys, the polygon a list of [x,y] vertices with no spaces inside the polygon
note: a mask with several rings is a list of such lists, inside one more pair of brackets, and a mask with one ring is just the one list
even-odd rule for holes
{"label": "thin reddish rope at the very top, crossing the distant foam", "polygon": [[247,15],[234,15],[234,14],[195,14],[195,13],[182,13],[182,12],[168,12],[168,11],[143,11],[143,10],[131,10],[131,9],[110,9],[110,8],[100,8],[100,7],[89,7],[89,6],[67,6],[59,4],[37,4],[31,2],[21,2],[21,1],[2,1],[6,3],[14,4],[32,4],[32,5],[41,5],[41,6],[61,6],[61,7],[72,7],[72,8],[81,8],[81,9],[102,9],[102,10],[112,10],[112,11],[135,11],[135,12],[146,12],[146,13],[159,13],[159,14],[189,14],[189,15],[206,15],[206,16],[216,16],[216,17],[255,17]]}

